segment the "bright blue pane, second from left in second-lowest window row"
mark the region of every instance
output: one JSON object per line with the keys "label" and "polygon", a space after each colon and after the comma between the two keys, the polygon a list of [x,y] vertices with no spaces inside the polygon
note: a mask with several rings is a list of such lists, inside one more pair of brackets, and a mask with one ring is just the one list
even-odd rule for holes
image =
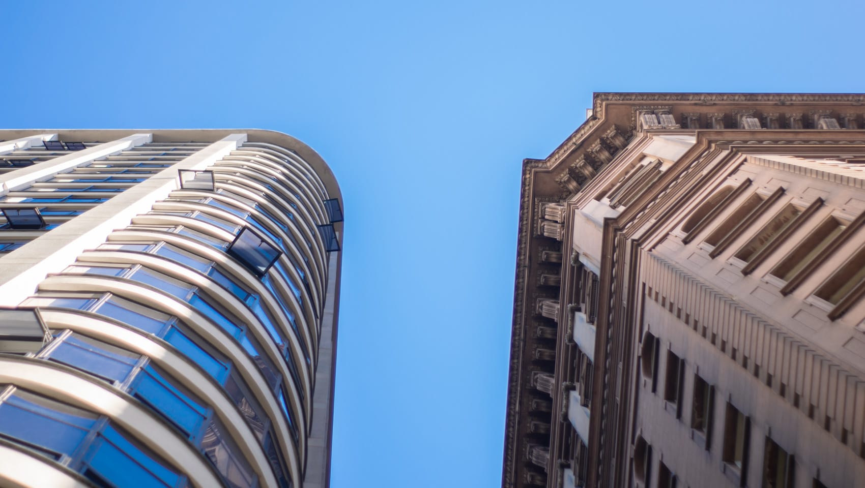
{"label": "bright blue pane, second from left in second-lowest window row", "polygon": [[138,373],[131,390],[134,396],[157,410],[189,437],[198,435],[207,409],[188,395],[183,394],[152,366]]}

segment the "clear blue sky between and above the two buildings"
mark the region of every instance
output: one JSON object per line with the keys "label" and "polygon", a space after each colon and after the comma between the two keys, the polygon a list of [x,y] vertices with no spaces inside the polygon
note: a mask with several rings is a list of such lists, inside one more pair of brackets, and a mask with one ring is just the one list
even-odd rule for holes
{"label": "clear blue sky between and above the two buildings", "polygon": [[863,14],[0,0],[0,127],[263,128],[317,149],[346,215],[333,488],[496,487],[522,158],[592,92],[865,91]]}

